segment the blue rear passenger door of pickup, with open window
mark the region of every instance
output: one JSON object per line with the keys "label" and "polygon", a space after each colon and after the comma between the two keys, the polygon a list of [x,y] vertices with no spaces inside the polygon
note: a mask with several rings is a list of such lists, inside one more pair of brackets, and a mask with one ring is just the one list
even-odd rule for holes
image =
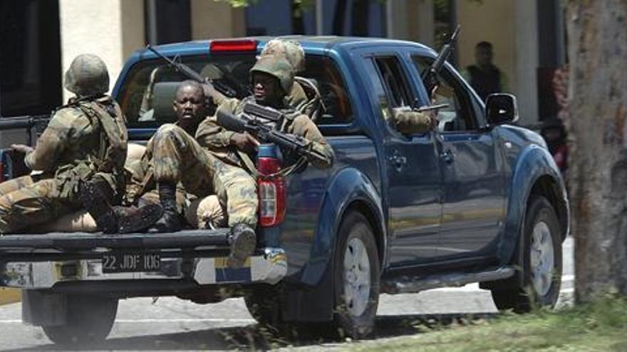
{"label": "blue rear passenger door of pickup, with open window", "polygon": [[432,132],[403,135],[392,122],[396,110],[408,109],[416,94],[394,55],[363,58],[371,100],[383,134],[380,157],[388,205],[388,255],[393,267],[425,262],[435,256],[442,213],[442,174]]}

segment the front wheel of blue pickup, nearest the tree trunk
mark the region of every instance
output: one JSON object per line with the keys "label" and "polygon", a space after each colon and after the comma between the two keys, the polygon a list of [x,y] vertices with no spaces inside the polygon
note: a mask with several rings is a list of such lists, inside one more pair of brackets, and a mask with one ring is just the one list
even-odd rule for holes
{"label": "front wheel of blue pickup, nearest the tree trunk", "polygon": [[[561,286],[561,231],[551,203],[542,196],[532,196],[525,214],[522,263],[522,286],[492,289],[492,299],[499,310],[512,309],[526,313],[534,308],[553,308]],[[519,245],[519,250],[521,246]]]}

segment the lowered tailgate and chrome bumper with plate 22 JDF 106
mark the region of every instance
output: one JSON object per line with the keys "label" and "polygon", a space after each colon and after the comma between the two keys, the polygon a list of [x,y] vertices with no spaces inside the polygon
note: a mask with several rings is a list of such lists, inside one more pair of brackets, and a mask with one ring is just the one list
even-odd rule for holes
{"label": "lowered tailgate and chrome bumper with plate 22 JDF 106", "polygon": [[[274,284],[287,272],[281,248],[257,248],[229,267],[229,229],[176,233],[47,233],[0,236],[0,287],[58,289],[68,284],[167,281]],[[106,285],[115,292],[116,285]],[[124,285],[118,285],[120,290]]]}

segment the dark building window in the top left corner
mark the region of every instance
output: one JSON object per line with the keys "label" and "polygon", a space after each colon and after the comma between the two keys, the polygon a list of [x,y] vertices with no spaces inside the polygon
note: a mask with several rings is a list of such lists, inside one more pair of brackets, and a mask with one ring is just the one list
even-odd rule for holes
{"label": "dark building window in the top left corner", "polygon": [[0,1],[0,114],[49,114],[61,105],[58,1]]}

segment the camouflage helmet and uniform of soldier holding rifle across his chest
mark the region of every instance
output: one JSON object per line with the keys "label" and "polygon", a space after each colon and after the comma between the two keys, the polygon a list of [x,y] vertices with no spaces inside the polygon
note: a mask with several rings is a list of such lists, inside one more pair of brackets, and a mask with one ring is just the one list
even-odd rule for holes
{"label": "camouflage helmet and uniform of soldier holding rifle across his chest", "polygon": [[[291,71],[289,63],[278,56],[262,56],[257,64],[251,69],[251,73],[255,71],[269,73],[279,79],[281,88],[284,92],[291,91],[294,73]],[[244,110],[247,102],[253,102],[254,97],[247,97],[244,100],[230,99],[226,100],[218,107],[219,110],[230,112],[232,114],[240,114]],[[286,119],[277,127],[283,132],[296,134],[308,139],[311,142],[311,149],[318,151],[319,154],[326,156],[325,161],[311,160],[314,166],[325,169],[333,163],[333,149],[326,143],[326,139],[322,136],[316,124],[305,114],[298,111],[286,110]],[[223,180],[222,184],[226,188],[227,211],[229,225],[237,223],[232,218],[237,218],[239,222],[247,219],[245,223],[257,223],[257,182],[251,175],[250,156],[237,150],[237,147],[231,145],[231,137],[235,132],[228,131],[219,127],[216,123],[216,117],[209,117],[199,125],[196,132],[196,140],[200,145],[207,147],[212,155],[222,161],[219,171],[219,178]],[[224,194],[224,193],[222,193]],[[221,193],[217,196],[221,203]],[[206,214],[212,216],[212,214]],[[219,218],[219,217],[217,217]],[[199,222],[207,219],[199,218]]]}

